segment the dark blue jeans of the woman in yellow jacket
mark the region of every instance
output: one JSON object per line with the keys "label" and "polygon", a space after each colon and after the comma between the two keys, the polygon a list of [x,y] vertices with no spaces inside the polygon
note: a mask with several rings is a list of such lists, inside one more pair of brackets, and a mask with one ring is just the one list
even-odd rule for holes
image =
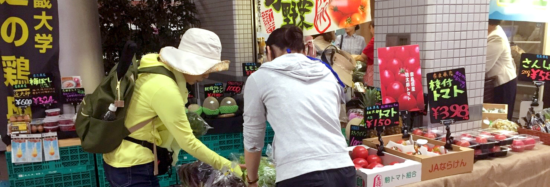
{"label": "dark blue jeans of the woman in yellow jacket", "polygon": [[128,168],[116,168],[103,162],[105,177],[113,187],[160,187],[155,176],[155,165],[151,163],[141,164]]}

